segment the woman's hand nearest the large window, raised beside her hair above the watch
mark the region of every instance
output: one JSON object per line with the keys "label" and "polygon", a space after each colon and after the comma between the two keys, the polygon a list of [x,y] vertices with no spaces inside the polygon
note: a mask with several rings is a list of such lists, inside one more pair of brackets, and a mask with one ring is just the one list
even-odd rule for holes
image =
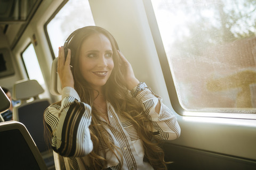
{"label": "woman's hand nearest the large window, raised beside her hair above the watch", "polygon": [[140,82],[135,77],[132,65],[129,63],[129,61],[126,60],[124,55],[117,50],[120,58],[121,58],[121,66],[124,67],[125,70],[125,80],[126,80],[126,87],[128,90],[132,90],[132,88],[136,87]]}

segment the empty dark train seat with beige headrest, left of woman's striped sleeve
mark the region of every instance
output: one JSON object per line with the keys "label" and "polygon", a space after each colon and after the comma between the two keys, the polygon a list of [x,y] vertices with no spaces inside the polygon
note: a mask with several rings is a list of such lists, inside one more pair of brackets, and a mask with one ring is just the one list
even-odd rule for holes
{"label": "empty dark train seat with beige headrest, left of woman's striped sleeve", "polygon": [[[50,106],[49,99],[40,99],[44,89],[36,80],[22,80],[13,86],[13,99],[20,100],[20,105],[13,107],[13,120],[23,123],[34,139],[46,165],[53,166],[53,154],[44,140],[44,110]],[[31,101],[31,98],[33,100]]]}

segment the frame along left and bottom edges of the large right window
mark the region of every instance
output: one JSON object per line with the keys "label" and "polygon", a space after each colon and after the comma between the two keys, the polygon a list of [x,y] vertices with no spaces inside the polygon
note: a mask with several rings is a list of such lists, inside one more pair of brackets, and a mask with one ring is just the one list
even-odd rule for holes
{"label": "frame along left and bottom edges of the large right window", "polygon": [[158,28],[155,12],[151,1],[143,0],[145,6],[145,11],[149,23],[149,28],[151,30],[151,35],[154,40],[159,62],[161,64],[162,72],[165,79],[165,84],[171,101],[171,105],[176,113],[181,116],[200,116],[200,117],[225,117],[225,118],[242,118],[242,119],[252,119],[256,120],[256,109],[247,110],[233,110],[233,109],[223,109],[223,110],[211,110],[211,111],[186,111],[184,109],[178,98],[178,93],[174,85],[171,69],[167,56],[165,53],[163,40],[161,33]]}

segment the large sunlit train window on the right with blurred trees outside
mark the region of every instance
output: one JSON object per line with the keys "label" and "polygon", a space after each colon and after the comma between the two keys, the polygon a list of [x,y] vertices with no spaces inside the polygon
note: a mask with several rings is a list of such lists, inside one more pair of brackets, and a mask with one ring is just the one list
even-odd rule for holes
{"label": "large sunlit train window on the right with blurred trees outside", "polygon": [[256,113],[256,2],[151,3],[181,107]]}

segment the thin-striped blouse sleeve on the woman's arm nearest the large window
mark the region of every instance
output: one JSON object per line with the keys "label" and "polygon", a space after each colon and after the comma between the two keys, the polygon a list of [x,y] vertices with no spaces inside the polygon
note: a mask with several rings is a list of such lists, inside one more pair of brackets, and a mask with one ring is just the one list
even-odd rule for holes
{"label": "thin-striped blouse sleeve on the woman's arm nearest the large window", "polygon": [[[173,140],[180,136],[180,126],[177,117],[162,103],[162,98],[145,89],[137,95],[136,99],[153,122],[153,134],[161,140]],[[159,113],[155,112],[157,103],[161,104]]]}

